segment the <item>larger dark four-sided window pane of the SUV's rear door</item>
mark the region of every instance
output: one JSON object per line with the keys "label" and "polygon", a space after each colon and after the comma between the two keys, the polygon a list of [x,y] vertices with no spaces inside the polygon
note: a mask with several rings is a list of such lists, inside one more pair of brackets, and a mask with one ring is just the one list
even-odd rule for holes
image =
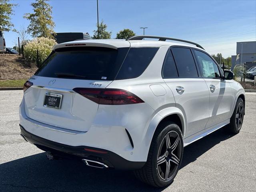
{"label": "larger dark four-sided window pane of the SUV's rear door", "polygon": [[189,48],[172,48],[179,77],[198,77],[196,63]]}

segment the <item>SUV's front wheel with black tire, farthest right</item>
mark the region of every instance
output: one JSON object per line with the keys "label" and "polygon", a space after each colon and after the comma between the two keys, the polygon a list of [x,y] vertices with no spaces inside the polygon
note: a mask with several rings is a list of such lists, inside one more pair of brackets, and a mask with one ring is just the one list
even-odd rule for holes
{"label": "SUV's front wheel with black tire, farthest right", "polygon": [[230,118],[229,130],[233,134],[240,132],[244,121],[244,101],[242,98],[238,98],[236,107]]}

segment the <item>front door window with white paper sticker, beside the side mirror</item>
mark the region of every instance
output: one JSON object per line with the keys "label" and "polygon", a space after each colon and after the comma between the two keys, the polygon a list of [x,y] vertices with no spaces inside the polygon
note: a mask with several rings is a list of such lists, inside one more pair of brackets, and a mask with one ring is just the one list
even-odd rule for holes
{"label": "front door window with white paper sticker, beside the side mirror", "polygon": [[205,78],[220,78],[220,71],[217,64],[202,51],[195,50],[196,57],[202,69],[202,76]]}

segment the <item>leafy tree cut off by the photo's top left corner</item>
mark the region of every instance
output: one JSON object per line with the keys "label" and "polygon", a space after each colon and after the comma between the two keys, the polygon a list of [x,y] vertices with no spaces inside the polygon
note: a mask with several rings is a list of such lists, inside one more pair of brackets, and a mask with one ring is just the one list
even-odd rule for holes
{"label": "leafy tree cut off by the photo's top left corner", "polygon": [[0,0],[0,30],[15,31],[11,22],[11,16],[14,15],[13,8],[18,4],[9,3],[10,0]]}

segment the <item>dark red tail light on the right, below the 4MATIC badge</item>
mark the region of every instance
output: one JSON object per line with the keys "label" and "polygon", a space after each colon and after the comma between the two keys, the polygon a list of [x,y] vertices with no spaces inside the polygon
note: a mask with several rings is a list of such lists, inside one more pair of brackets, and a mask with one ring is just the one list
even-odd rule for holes
{"label": "dark red tail light on the right, below the 4MATIC badge", "polygon": [[102,105],[144,103],[138,96],[122,89],[74,88],[78,94]]}

